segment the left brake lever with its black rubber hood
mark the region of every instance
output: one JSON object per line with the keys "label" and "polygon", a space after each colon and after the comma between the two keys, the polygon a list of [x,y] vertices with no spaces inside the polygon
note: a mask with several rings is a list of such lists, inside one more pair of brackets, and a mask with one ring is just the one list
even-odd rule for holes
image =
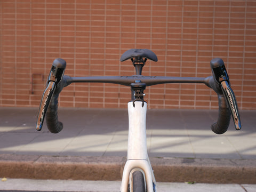
{"label": "left brake lever with its black rubber hood", "polygon": [[47,86],[43,92],[42,100],[38,111],[36,122],[36,130],[38,131],[42,130],[47,108],[49,107],[49,103],[52,99],[52,95],[55,91],[55,88],[57,87],[58,83],[61,81],[64,75],[65,68],[66,61],[63,59],[55,59],[52,63],[52,68],[47,79]]}

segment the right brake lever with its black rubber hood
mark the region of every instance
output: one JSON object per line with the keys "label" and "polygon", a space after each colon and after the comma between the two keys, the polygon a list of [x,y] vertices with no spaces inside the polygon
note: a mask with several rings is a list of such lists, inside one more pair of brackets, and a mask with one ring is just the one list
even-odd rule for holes
{"label": "right brake lever with its black rubber hood", "polygon": [[240,130],[241,120],[238,113],[238,106],[237,106],[235,94],[230,87],[229,76],[223,60],[220,58],[212,59],[211,68],[212,68],[213,75],[215,76],[215,81],[219,83],[221,90],[223,92],[223,95],[228,103],[236,130]]}

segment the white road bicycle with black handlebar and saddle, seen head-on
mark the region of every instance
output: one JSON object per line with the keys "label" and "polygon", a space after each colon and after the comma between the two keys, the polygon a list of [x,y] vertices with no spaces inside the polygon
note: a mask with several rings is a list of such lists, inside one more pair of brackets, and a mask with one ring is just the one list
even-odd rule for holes
{"label": "white road bicycle with black handlebar and saddle, seen head-on", "polygon": [[131,59],[136,75],[132,76],[98,76],[70,77],[64,75],[66,61],[55,59],[47,79],[47,86],[42,95],[39,107],[36,130],[40,131],[46,117],[47,128],[52,133],[62,130],[63,124],[58,121],[58,97],[63,87],[71,83],[114,83],[131,87],[131,101],[128,102],[129,133],[127,161],[123,170],[121,192],[156,191],[156,179],[147,154],[146,113],[147,102],[143,91],[147,86],[165,83],[204,83],[218,95],[219,115],[217,122],[211,125],[214,133],[222,134],[228,129],[232,115],[236,130],[241,129],[235,94],[230,87],[229,76],[224,62],[220,58],[210,62],[212,76],[203,77],[161,77],[142,76],[142,67],[147,59],[157,61],[157,56],[148,49],[131,49],[126,51],[121,61]]}

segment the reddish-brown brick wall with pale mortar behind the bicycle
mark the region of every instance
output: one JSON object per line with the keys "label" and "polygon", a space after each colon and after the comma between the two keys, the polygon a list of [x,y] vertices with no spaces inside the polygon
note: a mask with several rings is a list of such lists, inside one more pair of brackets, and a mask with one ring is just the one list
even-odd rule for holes
{"label": "reddish-brown brick wall with pale mortar behind the bicycle", "polygon": [[[222,58],[240,109],[256,109],[256,1],[2,0],[0,106],[38,106],[52,61],[70,76],[133,75],[132,48],[154,51],[142,75],[211,75]],[[205,85],[147,87],[150,108],[217,108]],[[81,83],[66,87],[62,107],[124,108],[130,87]]]}

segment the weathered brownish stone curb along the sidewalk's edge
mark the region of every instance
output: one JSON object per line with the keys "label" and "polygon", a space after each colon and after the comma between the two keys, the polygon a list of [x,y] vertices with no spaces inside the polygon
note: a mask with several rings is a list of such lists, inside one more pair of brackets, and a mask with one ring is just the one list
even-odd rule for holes
{"label": "weathered brownish stone curb along the sidewalk's edge", "polygon": [[[121,180],[126,157],[0,155],[0,177]],[[150,158],[158,182],[256,184],[254,159]]]}

